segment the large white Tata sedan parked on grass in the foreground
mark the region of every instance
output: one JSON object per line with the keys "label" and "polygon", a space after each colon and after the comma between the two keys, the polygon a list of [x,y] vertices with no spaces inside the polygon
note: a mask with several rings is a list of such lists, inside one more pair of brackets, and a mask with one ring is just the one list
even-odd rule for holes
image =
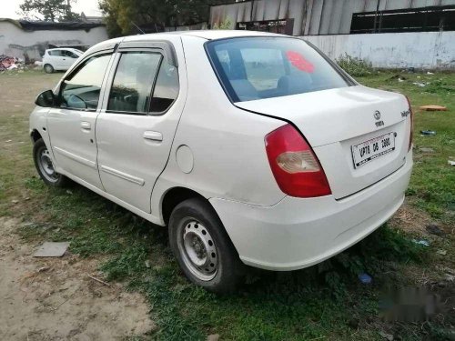
{"label": "large white Tata sedan parked on grass in the foreground", "polygon": [[245,266],[334,256],[403,203],[410,103],[305,41],[245,31],[90,48],[30,116],[36,169],[158,226],[186,276],[233,290]]}

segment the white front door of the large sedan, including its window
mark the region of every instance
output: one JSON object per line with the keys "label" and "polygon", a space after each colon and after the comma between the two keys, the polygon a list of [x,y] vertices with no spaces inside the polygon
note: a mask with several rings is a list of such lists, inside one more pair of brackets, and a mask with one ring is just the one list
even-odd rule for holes
{"label": "white front door of the large sedan, including its window", "polygon": [[[95,126],[98,100],[101,103],[101,88],[110,59],[110,53],[88,56],[61,83],[60,105],[51,108],[47,115],[57,171],[64,171],[98,188],[103,186],[96,163]],[[92,62],[94,64],[89,65]]]}

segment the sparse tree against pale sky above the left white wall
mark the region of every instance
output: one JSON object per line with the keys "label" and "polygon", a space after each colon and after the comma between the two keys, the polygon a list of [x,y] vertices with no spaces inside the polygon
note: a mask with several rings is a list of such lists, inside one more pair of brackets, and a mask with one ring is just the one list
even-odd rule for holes
{"label": "sparse tree against pale sky above the left white wall", "polygon": [[24,0],[19,7],[27,19],[74,21],[79,18],[79,15],[71,11],[71,3],[75,2],[76,0]]}

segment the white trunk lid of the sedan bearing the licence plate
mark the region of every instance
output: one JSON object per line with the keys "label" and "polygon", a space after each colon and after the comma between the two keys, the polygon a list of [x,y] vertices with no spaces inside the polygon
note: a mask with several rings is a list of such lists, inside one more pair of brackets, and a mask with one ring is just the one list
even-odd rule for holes
{"label": "white trunk lid of the sedan bearing the licence plate", "polygon": [[[409,106],[403,95],[356,85],[235,105],[297,126],[318,156],[336,199],[389,176],[408,153]],[[379,151],[371,159],[364,151],[365,161],[359,149],[368,145]]]}

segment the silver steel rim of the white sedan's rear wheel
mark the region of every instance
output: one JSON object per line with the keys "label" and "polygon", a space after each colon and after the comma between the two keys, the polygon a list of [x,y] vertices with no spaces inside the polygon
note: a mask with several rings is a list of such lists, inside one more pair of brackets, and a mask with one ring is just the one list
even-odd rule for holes
{"label": "silver steel rim of the white sedan's rear wheel", "polygon": [[206,282],[217,276],[217,246],[205,226],[188,219],[180,228],[177,243],[185,265],[194,276]]}

